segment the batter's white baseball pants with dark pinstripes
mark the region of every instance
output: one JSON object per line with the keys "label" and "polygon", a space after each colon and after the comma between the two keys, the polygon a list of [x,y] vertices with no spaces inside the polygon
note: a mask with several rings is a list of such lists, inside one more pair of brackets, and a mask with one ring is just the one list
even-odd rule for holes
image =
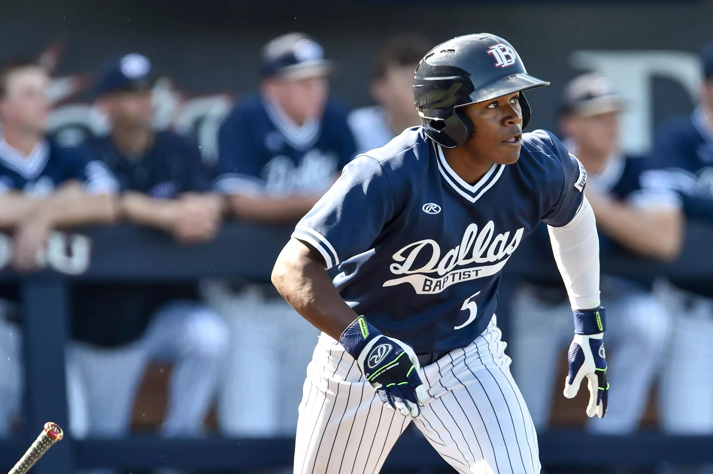
{"label": "batter's white baseball pants with dark pinstripes", "polygon": [[413,419],[385,409],[354,359],[322,334],[299,405],[294,473],[378,473],[412,420],[459,473],[539,473],[535,428],[505,346],[493,317],[468,347],[422,367],[431,399]]}

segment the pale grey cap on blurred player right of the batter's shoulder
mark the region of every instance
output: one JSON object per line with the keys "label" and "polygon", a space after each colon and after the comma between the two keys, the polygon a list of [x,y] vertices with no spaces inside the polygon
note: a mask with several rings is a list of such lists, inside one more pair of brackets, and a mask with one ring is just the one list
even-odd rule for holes
{"label": "pale grey cap on blurred player right of the batter's shoulder", "polygon": [[567,85],[560,112],[589,116],[621,109],[620,96],[610,88],[604,76],[586,73]]}

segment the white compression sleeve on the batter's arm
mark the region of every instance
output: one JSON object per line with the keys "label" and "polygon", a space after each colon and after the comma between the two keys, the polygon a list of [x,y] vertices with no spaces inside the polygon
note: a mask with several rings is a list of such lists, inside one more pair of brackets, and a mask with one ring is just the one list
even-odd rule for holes
{"label": "white compression sleeve on the batter's arm", "polygon": [[599,236],[594,211],[587,198],[577,215],[562,227],[547,226],[557,267],[573,310],[598,307]]}

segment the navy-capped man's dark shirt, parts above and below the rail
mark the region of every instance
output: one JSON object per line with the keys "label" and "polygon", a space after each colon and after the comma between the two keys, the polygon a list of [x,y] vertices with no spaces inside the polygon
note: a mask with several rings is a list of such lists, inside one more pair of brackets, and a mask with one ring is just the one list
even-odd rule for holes
{"label": "navy-capped man's dark shirt, parts above and below the rail", "polygon": [[[109,136],[88,140],[86,148],[116,174],[122,191],[155,199],[210,191],[198,144],[170,130],[156,132],[152,146],[140,157],[125,156]],[[166,302],[198,298],[195,282],[75,284],[72,337],[99,347],[119,347],[141,337]]]}

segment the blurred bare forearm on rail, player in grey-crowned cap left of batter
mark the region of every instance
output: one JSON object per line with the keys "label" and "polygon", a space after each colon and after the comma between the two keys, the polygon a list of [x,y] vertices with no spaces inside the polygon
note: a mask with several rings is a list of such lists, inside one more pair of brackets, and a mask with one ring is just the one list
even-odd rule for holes
{"label": "blurred bare forearm on rail, player in grey-crowned cap left of batter", "polygon": [[237,218],[259,222],[297,221],[312,209],[317,196],[294,195],[286,198],[269,196],[250,197],[232,194],[229,197],[230,208]]}

